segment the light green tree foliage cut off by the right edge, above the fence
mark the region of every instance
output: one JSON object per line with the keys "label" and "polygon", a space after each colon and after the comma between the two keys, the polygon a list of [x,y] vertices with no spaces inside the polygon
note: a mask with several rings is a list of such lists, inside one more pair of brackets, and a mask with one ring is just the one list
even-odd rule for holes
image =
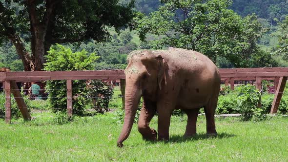
{"label": "light green tree foliage cut off by the right edge, above the fence", "polygon": [[280,48],[276,51],[276,54],[281,55],[284,60],[288,61],[288,16],[279,24],[278,38]]}

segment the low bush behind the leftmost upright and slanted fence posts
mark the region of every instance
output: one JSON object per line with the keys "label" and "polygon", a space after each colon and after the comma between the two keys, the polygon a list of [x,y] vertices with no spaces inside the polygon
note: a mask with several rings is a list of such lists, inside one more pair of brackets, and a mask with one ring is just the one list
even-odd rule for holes
{"label": "low bush behind the leftmost upright and slanted fence posts", "polygon": [[[28,97],[23,95],[24,102],[28,108],[28,111],[30,112],[30,102],[28,100]],[[21,118],[21,112],[19,110],[19,107],[14,99],[13,94],[11,94],[11,114],[12,118],[18,119]],[[2,92],[0,93],[0,119],[5,119],[5,94]]]}

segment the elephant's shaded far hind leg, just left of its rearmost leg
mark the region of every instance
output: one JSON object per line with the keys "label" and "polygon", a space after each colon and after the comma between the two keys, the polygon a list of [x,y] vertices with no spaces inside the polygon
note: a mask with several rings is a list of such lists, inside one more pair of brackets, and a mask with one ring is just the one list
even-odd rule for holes
{"label": "elephant's shaded far hind leg, just left of its rearmost leg", "polygon": [[199,108],[197,109],[190,109],[190,110],[183,110],[188,117],[186,131],[184,137],[193,137],[196,135],[196,122],[198,118]]}

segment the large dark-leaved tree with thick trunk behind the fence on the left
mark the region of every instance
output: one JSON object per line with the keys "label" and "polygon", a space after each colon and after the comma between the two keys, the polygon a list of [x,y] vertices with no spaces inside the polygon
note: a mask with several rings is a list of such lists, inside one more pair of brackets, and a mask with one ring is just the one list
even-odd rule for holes
{"label": "large dark-leaved tree with thick trunk behind the fence on the left", "polygon": [[[44,56],[55,43],[97,42],[110,38],[134,16],[134,0],[0,0],[0,44],[11,41],[25,71],[43,69]],[[24,41],[31,43],[31,53]]]}

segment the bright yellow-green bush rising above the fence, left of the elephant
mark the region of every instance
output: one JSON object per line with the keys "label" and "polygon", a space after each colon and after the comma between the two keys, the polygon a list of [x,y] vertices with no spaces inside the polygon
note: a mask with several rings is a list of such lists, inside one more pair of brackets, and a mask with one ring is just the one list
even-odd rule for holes
{"label": "bright yellow-green bush rising above the fence, left of the elephant", "polygon": [[[57,44],[53,46],[46,57],[44,70],[73,71],[92,70],[93,63],[99,59],[95,54],[87,55],[87,51],[72,53],[72,50]],[[73,114],[84,115],[87,99],[83,88],[85,81],[73,81]],[[54,111],[66,111],[66,81],[47,81],[46,89],[49,92],[49,106]]]}

